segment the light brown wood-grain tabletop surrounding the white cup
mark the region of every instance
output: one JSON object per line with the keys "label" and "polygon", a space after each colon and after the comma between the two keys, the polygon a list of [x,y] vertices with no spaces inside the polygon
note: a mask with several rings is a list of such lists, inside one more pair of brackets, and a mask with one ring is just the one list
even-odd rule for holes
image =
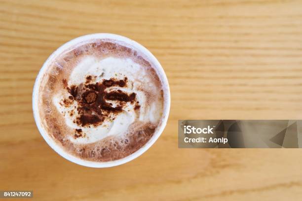
{"label": "light brown wood-grain tabletop surrounding the white cup", "polygon": [[[60,45],[116,33],[147,47],[171,88],[142,156],[88,168],[38,133],[32,89]],[[33,200],[301,200],[302,149],[178,149],[178,119],[302,119],[301,0],[0,0],[0,190]]]}

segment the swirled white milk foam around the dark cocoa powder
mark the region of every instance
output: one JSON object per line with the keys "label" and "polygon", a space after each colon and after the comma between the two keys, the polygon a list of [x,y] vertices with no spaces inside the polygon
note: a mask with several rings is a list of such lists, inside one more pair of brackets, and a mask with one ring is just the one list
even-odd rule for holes
{"label": "swirled white milk foam around the dark cocoa powder", "polygon": [[[104,79],[124,79],[127,77],[128,84],[126,87],[112,86],[106,89],[107,92],[121,90],[127,93],[135,93],[136,100],[139,101],[141,107],[138,110],[134,109],[134,105],[126,103],[123,111],[116,114],[114,119],[107,118],[99,126],[81,127],[75,123],[77,116],[77,102],[73,101],[68,107],[60,104],[64,99],[68,99],[70,94],[66,90],[58,91],[53,96],[53,103],[57,110],[64,115],[66,126],[70,129],[81,129],[83,136],[74,137],[74,134],[68,134],[66,137],[75,144],[88,144],[102,140],[108,136],[120,136],[126,134],[125,131],[135,122],[156,123],[161,118],[162,102],[154,100],[148,104],[148,92],[156,89],[151,80],[150,73],[145,67],[134,62],[130,58],[107,57],[98,58],[95,56],[85,56],[78,61],[76,67],[73,68],[67,79],[68,85],[79,85],[85,83],[86,77],[92,75],[95,77],[93,83],[102,82]],[[156,92],[155,92],[156,93]],[[111,102],[113,107],[117,104],[115,100],[106,100]],[[70,116],[73,112],[74,115]]]}

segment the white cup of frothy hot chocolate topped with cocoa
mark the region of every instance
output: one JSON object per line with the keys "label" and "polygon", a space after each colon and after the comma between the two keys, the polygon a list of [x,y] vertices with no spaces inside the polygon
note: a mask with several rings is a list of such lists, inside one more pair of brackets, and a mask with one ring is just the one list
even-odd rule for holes
{"label": "white cup of frothy hot chocolate topped with cocoa", "polygon": [[157,59],[110,33],[59,47],[33,90],[42,137],[65,159],[87,167],[113,167],[143,154],[163,132],[169,110],[169,84]]}

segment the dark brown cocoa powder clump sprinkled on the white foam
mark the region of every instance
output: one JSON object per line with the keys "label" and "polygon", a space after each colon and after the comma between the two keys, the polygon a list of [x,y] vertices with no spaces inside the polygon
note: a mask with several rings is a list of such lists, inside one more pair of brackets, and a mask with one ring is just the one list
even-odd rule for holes
{"label": "dark brown cocoa powder clump sprinkled on the white foam", "polygon": [[[91,75],[86,76],[86,81],[91,80]],[[66,82],[67,83],[67,82]],[[126,93],[121,90],[107,92],[107,88],[112,86],[125,87],[127,86],[127,77],[121,80],[114,78],[104,79],[96,83],[81,83],[66,87],[70,93],[70,100],[77,101],[77,117],[76,124],[82,127],[90,127],[91,125],[98,126],[106,118],[115,118],[115,114],[122,112],[126,102],[131,104],[136,103],[135,109],[140,108],[136,100],[135,93]],[[113,106],[111,101],[117,101]]]}

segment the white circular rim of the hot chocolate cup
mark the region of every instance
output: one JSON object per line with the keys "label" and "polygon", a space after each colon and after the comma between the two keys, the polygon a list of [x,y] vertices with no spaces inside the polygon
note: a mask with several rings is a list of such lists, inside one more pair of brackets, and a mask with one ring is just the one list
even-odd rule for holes
{"label": "white circular rim of the hot chocolate cup", "polygon": [[[77,44],[77,43],[82,42],[82,41],[85,41],[85,40],[89,40],[89,39],[113,39],[113,40],[118,40],[118,41],[121,41],[121,42],[125,42],[126,44],[132,45],[136,49],[140,50],[152,62],[154,67],[156,67],[156,69],[158,70],[158,72],[161,76],[162,84],[164,85],[164,88],[165,88],[165,104],[164,104],[164,108],[163,108],[164,116],[161,118],[161,124],[160,124],[159,128],[156,130],[156,132],[153,134],[153,136],[149,139],[149,141],[146,144],[144,144],[140,149],[138,149],[134,153],[130,154],[129,156],[126,156],[126,157],[118,159],[118,160],[109,161],[109,162],[87,161],[87,160],[77,158],[76,156],[73,156],[73,155],[67,153],[66,151],[64,151],[63,147],[58,145],[49,136],[49,134],[47,134],[45,129],[41,126],[42,125],[41,124],[41,118],[40,118],[40,115],[38,113],[38,106],[36,106],[37,103],[38,103],[38,89],[39,89],[39,86],[40,86],[40,80],[42,78],[42,75],[43,75],[45,69],[48,67],[48,64],[58,54],[60,54],[63,51],[67,50],[68,48],[72,47],[72,45]],[[140,155],[142,155],[143,153],[145,153],[155,143],[155,141],[158,139],[158,137],[162,134],[162,132],[163,132],[163,130],[164,130],[166,124],[167,124],[167,120],[168,120],[168,116],[169,116],[169,112],[170,112],[170,103],[171,103],[170,87],[169,87],[167,76],[166,76],[162,66],[160,65],[158,60],[155,58],[155,56],[146,47],[144,47],[140,43],[138,43],[138,42],[136,42],[136,41],[134,41],[134,40],[132,40],[128,37],[113,34],[113,33],[92,33],[92,34],[82,35],[82,36],[76,37],[76,38],[64,43],[58,49],[56,49],[47,58],[47,60],[44,62],[44,64],[42,65],[42,67],[40,68],[40,70],[38,72],[38,76],[36,78],[36,81],[35,81],[35,84],[34,84],[34,87],[33,87],[32,100],[33,100],[33,105],[32,106],[33,106],[34,119],[35,119],[36,125],[38,127],[38,131],[42,135],[42,137],[44,138],[46,143],[55,152],[57,152],[60,156],[62,156],[63,158],[65,158],[68,161],[71,161],[73,163],[76,163],[78,165],[86,166],[86,167],[114,167],[114,166],[119,166],[119,165],[125,164],[127,162],[130,162],[130,161],[136,159],[137,157],[139,157]]]}

